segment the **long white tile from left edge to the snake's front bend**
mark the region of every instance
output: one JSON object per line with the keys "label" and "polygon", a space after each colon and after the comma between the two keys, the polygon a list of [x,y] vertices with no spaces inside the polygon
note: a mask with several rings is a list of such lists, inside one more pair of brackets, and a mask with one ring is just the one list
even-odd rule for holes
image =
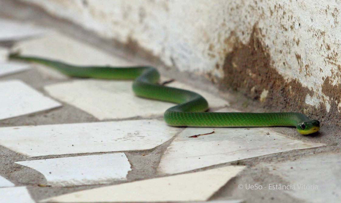
{"label": "long white tile from left edge to the snake's front bend", "polygon": [[127,120],[0,128],[0,145],[28,156],[144,150],[181,129],[160,120]]}

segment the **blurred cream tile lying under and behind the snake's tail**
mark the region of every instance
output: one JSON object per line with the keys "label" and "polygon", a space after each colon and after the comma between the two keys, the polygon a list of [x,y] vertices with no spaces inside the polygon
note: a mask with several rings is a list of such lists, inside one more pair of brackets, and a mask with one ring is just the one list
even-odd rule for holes
{"label": "blurred cream tile lying under and behind the snake's tail", "polygon": [[[80,66],[133,66],[133,62],[108,54],[96,47],[70,38],[58,32],[50,32],[42,38],[18,42],[13,48],[22,55],[38,56],[60,60]],[[45,66],[36,65],[43,77],[67,78],[58,71]]]}

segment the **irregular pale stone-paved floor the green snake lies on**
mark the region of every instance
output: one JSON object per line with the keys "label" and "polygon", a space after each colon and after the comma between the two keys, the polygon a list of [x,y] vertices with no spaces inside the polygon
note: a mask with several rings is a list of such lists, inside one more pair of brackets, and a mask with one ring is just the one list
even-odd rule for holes
{"label": "irregular pale stone-paved floor the green snake lies on", "polygon": [[[136,64],[54,30],[3,19],[1,25],[6,29],[0,30],[0,42],[21,39],[14,50],[22,54],[82,65]],[[2,50],[1,57],[9,52]],[[0,155],[0,202],[340,199],[340,189],[335,189],[341,184],[339,154],[298,156],[323,143],[294,140],[273,128],[169,127],[162,114],[172,104],[135,97],[131,81],[68,78],[43,66],[2,58],[0,151],[5,155]],[[28,77],[36,79],[21,81]],[[199,92],[220,111],[236,111],[223,108],[229,102],[210,92],[179,81],[169,86]],[[25,123],[36,117],[40,119],[34,125]],[[44,118],[48,125],[42,125]],[[283,153],[296,160],[273,161]],[[261,156],[270,158],[262,162]],[[268,179],[281,185],[306,180],[318,190],[277,189],[276,199],[269,197],[270,190],[237,188]]]}

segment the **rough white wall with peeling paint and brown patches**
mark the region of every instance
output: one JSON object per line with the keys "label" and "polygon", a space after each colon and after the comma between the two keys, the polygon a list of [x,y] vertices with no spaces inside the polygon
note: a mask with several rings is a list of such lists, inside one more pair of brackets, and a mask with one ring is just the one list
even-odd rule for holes
{"label": "rough white wall with peeling paint and brown patches", "polygon": [[273,110],[339,120],[340,0],[22,0]]}

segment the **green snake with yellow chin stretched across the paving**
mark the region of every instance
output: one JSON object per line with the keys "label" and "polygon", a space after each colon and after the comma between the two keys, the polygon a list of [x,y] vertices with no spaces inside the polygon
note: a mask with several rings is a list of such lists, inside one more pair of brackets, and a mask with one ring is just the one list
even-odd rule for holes
{"label": "green snake with yellow chin stretched across the paving", "polygon": [[272,127],[294,126],[301,134],[320,129],[318,120],[294,112],[246,113],[206,112],[208,103],[198,93],[167,87],[158,83],[160,74],[149,66],[109,67],[74,66],[61,61],[11,54],[11,59],[38,62],[55,68],[63,74],[80,78],[134,79],[133,91],[138,97],[162,100],[177,105],[168,108],[164,119],[169,126],[187,127]]}

